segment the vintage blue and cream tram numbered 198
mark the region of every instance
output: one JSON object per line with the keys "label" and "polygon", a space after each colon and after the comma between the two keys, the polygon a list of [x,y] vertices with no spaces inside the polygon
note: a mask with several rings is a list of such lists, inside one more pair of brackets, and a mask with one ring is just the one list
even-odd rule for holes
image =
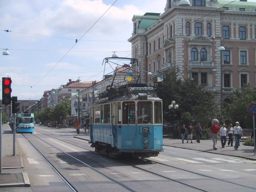
{"label": "vintage blue and cream tram numbered 198", "polygon": [[147,84],[123,85],[99,96],[90,110],[90,143],[116,157],[157,156],[163,149],[162,100]]}

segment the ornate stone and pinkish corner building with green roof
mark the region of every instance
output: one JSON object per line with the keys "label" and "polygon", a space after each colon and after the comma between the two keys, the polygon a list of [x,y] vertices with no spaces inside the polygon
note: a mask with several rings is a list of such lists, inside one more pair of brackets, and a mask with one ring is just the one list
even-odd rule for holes
{"label": "ornate stone and pinkish corner building with green roof", "polygon": [[167,0],[162,14],[134,15],[128,41],[140,63],[141,81],[147,81],[147,71],[156,75],[179,67],[179,78],[206,84],[218,105],[221,91],[226,99],[243,84],[255,86],[256,3],[231,2],[191,0],[181,7],[179,1]]}

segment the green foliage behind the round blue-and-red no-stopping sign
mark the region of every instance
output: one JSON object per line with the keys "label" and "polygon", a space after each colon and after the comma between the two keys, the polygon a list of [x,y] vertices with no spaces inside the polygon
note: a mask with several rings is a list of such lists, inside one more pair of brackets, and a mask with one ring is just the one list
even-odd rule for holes
{"label": "green foliage behind the round blue-and-red no-stopping sign", "polygon": [[252,128],[252,115],[248,113],[248,107],[256,102],[256,88],[250,85],[244,85],[241,90],[236,89],[228,97],[231,103],[225,103],[226,116],[229,121],[235,123],[239,121],[242,128]]}

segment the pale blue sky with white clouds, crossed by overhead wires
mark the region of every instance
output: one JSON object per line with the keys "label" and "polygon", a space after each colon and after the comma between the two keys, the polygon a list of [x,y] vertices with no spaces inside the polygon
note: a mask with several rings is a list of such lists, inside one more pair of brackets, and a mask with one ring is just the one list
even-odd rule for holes
{"label": "pale blue sky with white clouds, crossed by overhead wires", "polygon": [[[10,76],[12,96],[18,96],[18,100],[38,100],[44,90],[58,88],[68,79],[102,80],[105,57],[111,57],[114,51],[119,57],[131,56],[127,39],[132,34],[132,16],[163,13],[166,4],[166,0],[117,0],[84,35],[114,1],[0,0],[0,49],[10,52],[0,54],[0,84],[3,76]],[[7,29],[12,32],[4,31]]]}

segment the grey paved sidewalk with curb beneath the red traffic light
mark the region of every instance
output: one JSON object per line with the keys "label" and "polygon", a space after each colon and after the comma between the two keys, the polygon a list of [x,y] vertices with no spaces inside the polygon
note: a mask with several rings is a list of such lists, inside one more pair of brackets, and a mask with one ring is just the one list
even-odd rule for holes
{"label": "grey paved sidewalk with curb beneath the red traffic light", "polygon": [[22,156],[19,145],[16,142],[15,156],[12,156],[13,132],[9,124],[2,125],[2,173],[0,173],[0,188],[29,187],[30,182],[26,172],[15,172],[17,168],[23,168]]}

